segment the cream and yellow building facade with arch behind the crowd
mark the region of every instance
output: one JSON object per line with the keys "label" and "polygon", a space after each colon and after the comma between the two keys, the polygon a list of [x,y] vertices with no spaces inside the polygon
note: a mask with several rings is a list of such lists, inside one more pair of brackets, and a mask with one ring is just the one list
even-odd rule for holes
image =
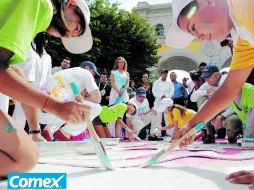
{"label": "cream and yellow building facade with arch behind the crowd", "polygon": [[184,71],[196,70],[201,62],[216,64],[220,69],[228,67],[231,63],[231,50],[229,47],[222,47],[218,41],[194,40],[183,49],[175,49],[165,43],[168,28],[172,22],[172,4],[150,5],[147,2],[139,2],[133,8],[133,12],[146,18],[154,27],[158,36],[158,49],[160,60],[158,69],[168,70],[179,69]]}

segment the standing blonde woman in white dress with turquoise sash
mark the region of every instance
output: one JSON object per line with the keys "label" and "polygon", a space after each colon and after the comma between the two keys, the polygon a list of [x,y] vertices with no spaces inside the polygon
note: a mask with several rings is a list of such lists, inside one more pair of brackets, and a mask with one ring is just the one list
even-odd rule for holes
{"label": "standing blonde woman in white dress with turquoise sash", "polygon": [[129,73],[127,72],[127,61],[123,57],[115,60],[114,68],[110,75],[111,91],[109,105],[128,102],[129,96],[127,89],[129,87]]}

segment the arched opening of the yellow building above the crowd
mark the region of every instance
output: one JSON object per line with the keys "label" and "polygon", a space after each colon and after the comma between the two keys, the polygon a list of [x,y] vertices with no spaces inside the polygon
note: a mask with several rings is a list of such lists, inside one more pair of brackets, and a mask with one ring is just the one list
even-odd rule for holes
{"label": "arched opening of the yellow building above the crowd", "polygon": [[160,63],[160,69],[177,69],[190,72],[191,70],[197,70],[197,68],[198,63],[186,56],[172,56]]}

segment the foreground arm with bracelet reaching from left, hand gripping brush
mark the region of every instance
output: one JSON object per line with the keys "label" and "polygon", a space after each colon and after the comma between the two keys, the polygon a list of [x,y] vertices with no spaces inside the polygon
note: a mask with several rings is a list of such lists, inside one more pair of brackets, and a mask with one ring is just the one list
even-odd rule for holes
{"label": "foreground arm with bracelet reaching from left, hand gripping brush", "polygon": [[[13,55],[9,50],[0,47],[0,92],[27,105],[44,109],[64,121],[81,123],[84,121],[80,112],[90,109],[89,106],[76,102],[59,102],[49,95],[43,94],[19,76],[7,61]],[[6,85],[8,84],[8,85]]]}

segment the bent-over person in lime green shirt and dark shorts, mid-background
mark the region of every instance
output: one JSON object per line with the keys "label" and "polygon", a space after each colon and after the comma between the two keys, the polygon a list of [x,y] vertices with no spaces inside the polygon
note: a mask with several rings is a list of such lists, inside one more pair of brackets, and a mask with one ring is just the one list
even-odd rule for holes
{"label": "bent-over person in lime green shirt and dark shorts, mid-background", "polygon": [[102,106],[100,115],[93,120],[93,125],[98,136],[100,138],[111,138],[107,123],[115,121],[116,125],[128,129],[128,126],[123,122],[124,114],[134,115],[136,111],[137,106],[133,103],[119,103],[113,106]]}

